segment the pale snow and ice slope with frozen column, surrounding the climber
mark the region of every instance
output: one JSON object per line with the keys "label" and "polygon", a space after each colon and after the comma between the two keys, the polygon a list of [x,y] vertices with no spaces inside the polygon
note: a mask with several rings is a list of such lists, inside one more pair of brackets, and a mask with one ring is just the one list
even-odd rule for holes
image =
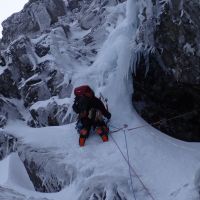
{"label": "pale snow and ice slope with frozen column, surrounding the climber", "polygon": [[[72,78],[74,86],[90,84],[97,95],[101,92],[108,98],[112,112],[111,130],[121,128],[123,124],[127,124],[128,128],[147,125],[131,105],[132,83],[128,76],[139,8],[132,0],[121,6],[127,8],[126,18],[119,20],[115,29],[109,30],[109,37],[93,65],[77,67]],[[76,31],[76,24],[74,26]],[[85,33],[79,31],[72,35],[77,39]],[[72,102],[73,97],[69,103]],[[19,192],[23,196],[21,199],[200,199],[197,191],[200,185],[199,144],[178,141],[148,125],[133,131],[128,131],[128,128],[112,133],[108,143],[102,143],[97,135],[92,134],[86,146],[80,148],[75,124],[34,129],[24,123],[10,123],[7,132],[21,138],[23,144],[32,148],[49,149],[53,152],[52,158],[57,157],[60,164],[71,166],[68,170],[73,171],[74,177],[58,193],[35,192],[18,156],[14,154],[0,162],[0,169],[4,171],[0,185]],[[126,162],[127,146],[130,166]],[[13,162],[18,163],[17,169],[12,167]],[[17,178],[17,174],[23,178]],[[0,193],[0,199],[4,199],[3,195]]]}

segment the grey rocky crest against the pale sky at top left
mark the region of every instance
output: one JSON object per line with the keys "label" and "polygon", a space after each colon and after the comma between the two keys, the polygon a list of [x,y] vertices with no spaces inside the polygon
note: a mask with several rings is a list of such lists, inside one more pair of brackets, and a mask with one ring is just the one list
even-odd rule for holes
{"label": "grey rocky crest against the pale sky at top left", "polygon": [[62,0],[31,0],[23,11],[13,14],[2,23],[2,42],[9,44],[19,35],[34,35],[46,31],[66,14]]}

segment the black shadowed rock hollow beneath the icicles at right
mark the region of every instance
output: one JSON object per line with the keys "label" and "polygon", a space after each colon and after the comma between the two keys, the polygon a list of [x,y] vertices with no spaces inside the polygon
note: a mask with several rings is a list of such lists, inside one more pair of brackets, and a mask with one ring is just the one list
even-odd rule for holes
{"label": "black shadowed rock hollow beneath the icicles at right", "polygon": [[162,120],[153,126],[170,136],[200,141],[200,85],[177,82],[171,71],[164,71],[154,60],[150,56],[147,75],[141,61],[133,76],[136,110],[151,124]]}

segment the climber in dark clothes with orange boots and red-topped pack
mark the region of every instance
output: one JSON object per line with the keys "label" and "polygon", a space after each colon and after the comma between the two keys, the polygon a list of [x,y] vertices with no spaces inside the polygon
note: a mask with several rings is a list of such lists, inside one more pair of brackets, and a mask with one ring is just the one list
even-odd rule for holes
{"label": "climber in dark clothes with orange boots and red-topped pack", "polygon": [[89,86],[83,85],[75,88],[74,94],[75,100],[72,107],[78,114],[76,129],[80,134],[79,145],[84,146],[91,128],[100,135],[103,142],[107,142],[109,128],[103,116],[109,120],[111,118],[110,112],[106,110],[103,102],[95,96]]}

